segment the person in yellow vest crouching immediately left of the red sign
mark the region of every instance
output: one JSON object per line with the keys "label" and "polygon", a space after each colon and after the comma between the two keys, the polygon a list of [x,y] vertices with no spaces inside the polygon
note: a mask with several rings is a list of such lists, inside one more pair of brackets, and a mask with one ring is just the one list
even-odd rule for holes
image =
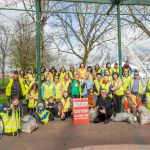
{"label": "person in yellow vest crouching immediately left of the red sign", "polygon": [[68,93],[66,91],[63,93],[61,105],[62,105],[61,120],[65,120],[66,118],[70,117],[72,113],[71,98],[68,96]]}

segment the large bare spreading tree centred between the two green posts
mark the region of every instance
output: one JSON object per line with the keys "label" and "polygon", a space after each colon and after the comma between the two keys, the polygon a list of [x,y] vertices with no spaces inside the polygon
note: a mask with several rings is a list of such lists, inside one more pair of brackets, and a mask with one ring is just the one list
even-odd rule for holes
{"label": "large bare spreading tree centred between the two green posts", "polygon": [[[93,14],[82,14],[91,9]],[[53,43],[59,52],[74,55],[86,64],[93,50],[114,40],[114,37],[107,35],[114,29],[114,17],[99,15],[102,9],[98,4],[74,4],[70,10],[75,13],[55,15],[57,22],[53,28],[57,27],[57,33]]]}

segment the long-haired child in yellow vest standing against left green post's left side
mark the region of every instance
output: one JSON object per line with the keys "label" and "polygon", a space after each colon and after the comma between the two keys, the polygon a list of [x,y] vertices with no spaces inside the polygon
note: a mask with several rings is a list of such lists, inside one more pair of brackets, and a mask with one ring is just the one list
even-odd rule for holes
{"label": "long-haired child in yellow vest standing against left green post's left side", "polygon": [[29,110],[29,115],[34,116],[34,113],[36,111],[36,106],[38,102],[38,85],[37,83],[34,83],[32,87],[29,90],[28,93],[28,110]]}

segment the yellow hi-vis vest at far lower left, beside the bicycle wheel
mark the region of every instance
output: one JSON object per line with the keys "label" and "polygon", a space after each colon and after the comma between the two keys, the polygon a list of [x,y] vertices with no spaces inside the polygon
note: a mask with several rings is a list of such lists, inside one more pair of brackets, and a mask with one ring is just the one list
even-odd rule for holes
{"label": "yellow hi-vis vest at far lower left, beside the bicycle wheel", "polygon": [[15,109],[12,109],[11,116],[8,116],[8,111],[6,113],[0,113],[0,115],[2,116],[4,122],[5,133],[15,133],[18,129],[21,129],[19,110],[17,111]]}

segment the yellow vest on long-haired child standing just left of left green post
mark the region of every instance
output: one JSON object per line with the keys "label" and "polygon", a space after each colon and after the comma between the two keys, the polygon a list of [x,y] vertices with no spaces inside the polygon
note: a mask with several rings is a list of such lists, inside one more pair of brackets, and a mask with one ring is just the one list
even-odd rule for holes
{"label": "yellow vest on long-haired child standing just left of left green post", "polygon": [[33,97],[29,98],[28,108],[36,108],[38,102],[38,91],[31,90],[28,96]]}

